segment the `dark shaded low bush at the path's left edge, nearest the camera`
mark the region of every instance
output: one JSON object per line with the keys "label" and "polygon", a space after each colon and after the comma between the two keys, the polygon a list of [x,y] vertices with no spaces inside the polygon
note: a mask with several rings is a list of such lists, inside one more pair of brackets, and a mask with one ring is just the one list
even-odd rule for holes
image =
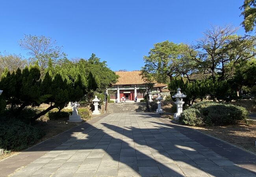
{"label": "dark shaded low bush at the path's left edge, nearest the camera", "polygon": [[0,148],[19,151],[35,144],[44,132],[17,119],[0,124]]}

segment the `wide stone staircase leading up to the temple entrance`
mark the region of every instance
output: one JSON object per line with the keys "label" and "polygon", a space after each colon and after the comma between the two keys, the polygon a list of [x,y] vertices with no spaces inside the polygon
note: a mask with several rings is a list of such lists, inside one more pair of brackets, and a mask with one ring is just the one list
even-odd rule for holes
{"label": "wide stone staircase leading up to the temple entrance", "polygon": [[148,108],[146,102],[108,103],[107,112],[148,112]]}

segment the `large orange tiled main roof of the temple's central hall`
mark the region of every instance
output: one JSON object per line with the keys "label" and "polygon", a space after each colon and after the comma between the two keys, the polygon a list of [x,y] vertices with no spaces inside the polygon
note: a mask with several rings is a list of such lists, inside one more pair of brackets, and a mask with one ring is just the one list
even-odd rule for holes
{"label": "large orange tiled main roof of the temple's central hall", "polygon": [[145,84],[145,81],[140,76],[140,71],[117,71],[115,74],[119,78],[114,85]]}

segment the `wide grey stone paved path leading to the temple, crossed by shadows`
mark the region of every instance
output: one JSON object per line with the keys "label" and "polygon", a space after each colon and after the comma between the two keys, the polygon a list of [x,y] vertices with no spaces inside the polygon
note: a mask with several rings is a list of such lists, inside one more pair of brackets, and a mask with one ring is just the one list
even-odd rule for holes
{"label": "wide grey stone paved path leading to the temple, crossed by shadows", "polygon": [[256,176],[255,155],[152,113],[104,114],[0,162],[0,174],[18,161],[11,176]]}

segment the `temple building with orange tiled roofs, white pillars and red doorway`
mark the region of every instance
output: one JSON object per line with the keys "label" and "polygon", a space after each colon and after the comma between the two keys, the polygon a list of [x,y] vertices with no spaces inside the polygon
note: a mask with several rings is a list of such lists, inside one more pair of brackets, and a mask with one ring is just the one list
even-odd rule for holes
{"label": "temple building with orange tiled roofs, white pillars and red doorway", "polygon": [[[119,76],[117,83],[113,84],[111,88],[107,88],[110,100],[119,103],[121,98],[125,98],[126,102],[134,102],[136,96],[137,101],[144,99],[147,88],[140,71],[115,72],[115,74]],[[153,98],[158,93],[163,94],[163,96],[170,94],[167,84],[162,83],[155,83],[151,92]]]}

